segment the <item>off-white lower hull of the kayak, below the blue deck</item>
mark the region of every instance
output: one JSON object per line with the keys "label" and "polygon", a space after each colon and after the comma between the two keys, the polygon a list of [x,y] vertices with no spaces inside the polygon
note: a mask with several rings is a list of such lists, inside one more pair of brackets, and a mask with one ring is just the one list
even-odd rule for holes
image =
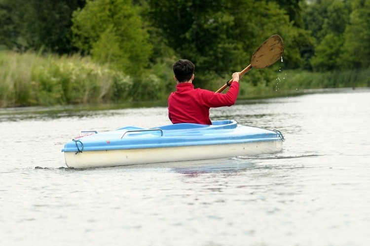
{"label": "off-white lower hull of the kayak, below the blue deck", "polygon": [[68,167],[108,167],[272,154],[279,152],[282,145],[282,141],[270,141],[227,145],[84,151],[82,153],[65,152],[65,159]]}

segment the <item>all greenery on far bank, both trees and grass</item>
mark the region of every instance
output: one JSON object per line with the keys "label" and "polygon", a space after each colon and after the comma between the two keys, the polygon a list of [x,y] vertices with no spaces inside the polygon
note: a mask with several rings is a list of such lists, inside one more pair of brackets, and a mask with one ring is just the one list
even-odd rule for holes
{"label": "all greenery on far bank, both trees and grass", "polygon": [[217,90],[272,34],[283,61],[244,75],[240,99],[370,86],[370,0],[0,0],[0,13],[0,107],[165,102],[180,58]]}

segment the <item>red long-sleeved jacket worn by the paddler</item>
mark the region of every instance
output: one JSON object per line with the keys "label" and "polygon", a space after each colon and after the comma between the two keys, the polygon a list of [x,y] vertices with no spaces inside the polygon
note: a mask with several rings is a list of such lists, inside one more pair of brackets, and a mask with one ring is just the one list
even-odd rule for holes
{"label": "red long-sleeved jacket worn by the paddler", "polygon": [[225,93],[196,88],[192,83],[178,83],[176,91],[168,97],[168,118],[172,123],[212,124],[210,108],[235,104],[239,93],[239,83],[232,82]]}

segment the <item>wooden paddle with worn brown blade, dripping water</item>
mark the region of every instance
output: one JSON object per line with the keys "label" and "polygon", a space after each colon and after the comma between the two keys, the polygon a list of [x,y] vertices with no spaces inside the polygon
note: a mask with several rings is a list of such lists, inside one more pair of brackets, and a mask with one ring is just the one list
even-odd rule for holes
{"label": "wooden paddle with worn brown blade, dripping water", "polygon": [[[252,55],[251,64],[239,72],[239,76],[243,76],[251,68],[266,68],[279,60],[284,53],[284,43],[282,38],[275,34],[261,43]],[[216,91],[222,92],[227,86],[230,86],[232,79],[226,82],[220,89]]]}

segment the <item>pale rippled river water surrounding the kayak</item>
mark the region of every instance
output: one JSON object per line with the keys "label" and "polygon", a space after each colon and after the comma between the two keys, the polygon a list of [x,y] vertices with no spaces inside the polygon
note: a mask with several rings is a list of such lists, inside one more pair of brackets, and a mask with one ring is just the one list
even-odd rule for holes
{"label": "pale rippled river water surrounding the kayak", "polygon": [[368,246],[370,89],[211,110],[280,130],[281,153],[71,169],[80,130],[169,124],[163,107],[0,110],[1,246]]}

